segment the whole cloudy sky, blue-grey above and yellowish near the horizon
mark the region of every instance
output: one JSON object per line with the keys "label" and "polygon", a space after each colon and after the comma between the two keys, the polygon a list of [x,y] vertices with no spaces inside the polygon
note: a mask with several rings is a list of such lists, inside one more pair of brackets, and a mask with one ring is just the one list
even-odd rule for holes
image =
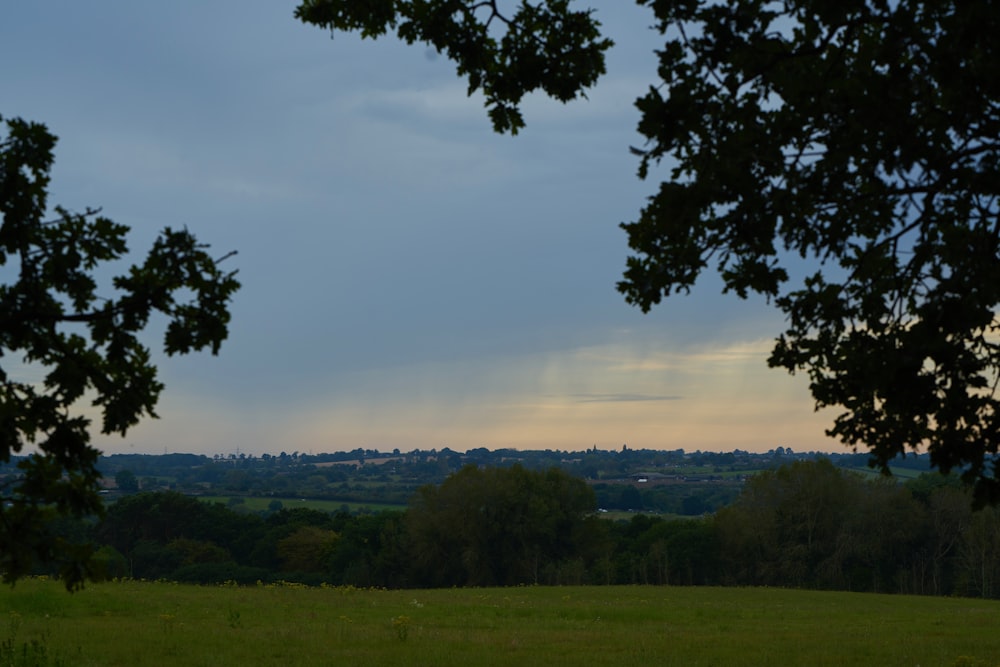
{"label": "whole cloudy sky, blue-grey above and yellowish near the horizon", "polygon": [[628,150],[648,9],[594,0],[607,75],[510,137],[443,56],[295,6],[0,5],[0,114],[59,137],[50,203],[129,225],[135,261],[167,226],[238,251],[220,354],[156,356],[160,418],[105,453],[842,449],[767,367],[762,300],[706,274],[644,315],[615,289],[664,177]]}

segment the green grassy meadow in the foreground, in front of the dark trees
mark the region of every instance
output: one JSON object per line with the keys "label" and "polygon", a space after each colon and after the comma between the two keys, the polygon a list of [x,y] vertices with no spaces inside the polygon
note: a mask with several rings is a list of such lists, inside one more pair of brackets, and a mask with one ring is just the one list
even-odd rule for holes
{"label": "green grassy meadow in the foreground, in front of the dark trees", "polygon": [[[0,664],[1000,664],[1000,602],[784,589],[0,589]],[[6,661],[5,647],[31,661]]]}

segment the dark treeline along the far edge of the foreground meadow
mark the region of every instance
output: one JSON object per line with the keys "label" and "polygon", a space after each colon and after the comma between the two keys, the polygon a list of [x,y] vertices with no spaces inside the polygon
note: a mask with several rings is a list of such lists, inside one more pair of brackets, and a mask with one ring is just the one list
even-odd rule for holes
{"label": "dark treeline along the far edge of the foreground meadow", "polygon": [[[956,480],[899,484],[796,461],[700,519],[601,518],[551,468],[469,465],[405,511],[233,511],[175,492],[113,503],[86,529],[108,576],[400,587],[767,585],[1000,597],[1000,514]],[[77,538],[81,537],[79,535]]]}

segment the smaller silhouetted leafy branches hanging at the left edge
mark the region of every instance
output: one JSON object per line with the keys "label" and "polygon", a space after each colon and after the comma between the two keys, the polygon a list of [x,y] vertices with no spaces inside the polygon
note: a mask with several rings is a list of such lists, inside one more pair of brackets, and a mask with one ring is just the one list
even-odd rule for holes
{"label": "smaller silhouetted leafy branches hanging at the left edge", "polygon": [[[3,119],[0,118],[0,121]],[[209,348],[227,335],[235,272],[184,230],[165,229],[141,264],[108,284],[103,264],[124,259],[128,227],[98,210],[55,207],[47,188],[56,138],[44,125],[8,119],[0,134],[0,460],[25,447],[15,478],[0,481],[0,572],[7,582],[33,563],[60,563],[67,587],[88,575],[90,548],[49,530],[56,517],[99,514],[100,430],[125,435],[154,411],[163,384],[140,334],[164,321],[168,355]],[[30,378],[41,376],[40,382]]]}

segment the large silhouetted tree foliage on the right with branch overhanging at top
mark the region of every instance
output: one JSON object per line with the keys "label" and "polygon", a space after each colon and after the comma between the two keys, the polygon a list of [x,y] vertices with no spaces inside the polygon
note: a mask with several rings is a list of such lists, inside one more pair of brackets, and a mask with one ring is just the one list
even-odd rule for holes
{"label": "large silhouetted tree foliage on the right with branch overhanging at top", "polygon": [[[828,433],[871,463],[924,448],[1000,501],[1000,11],[987,0],[639,0],[664,38],[636,102],[636,221],[619,290],[648,311],[706,269],[786,317],[769,364],[805,371]],[[304,0],[331,30],[445,52],[497,131],[532,90],[603,73],[568,0]],[[502,34],[502,36],[500,36]]]}

